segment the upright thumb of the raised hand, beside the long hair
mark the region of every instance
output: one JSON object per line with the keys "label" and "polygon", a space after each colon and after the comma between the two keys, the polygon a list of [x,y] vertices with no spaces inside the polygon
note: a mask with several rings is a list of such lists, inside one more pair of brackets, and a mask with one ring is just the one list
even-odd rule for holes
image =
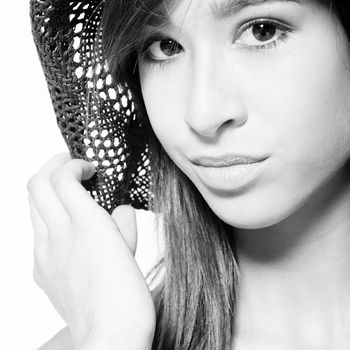
{"label": "upright thumb of the raised hand, beside the long hair", "polygon": [[135,256],[137,246],[136,211],[131,205],[119,205],[112,212],[112,218],[117,224],[132,255]]}

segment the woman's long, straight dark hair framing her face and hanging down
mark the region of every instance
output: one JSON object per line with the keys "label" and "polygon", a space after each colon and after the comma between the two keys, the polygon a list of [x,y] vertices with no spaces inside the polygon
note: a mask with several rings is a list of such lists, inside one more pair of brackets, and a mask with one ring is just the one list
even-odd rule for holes
{"label": "woman's long, straight dark hair framing her face and hanging down", "polygon": [[[342,22],[348,37],[348,5],[322,1]],[[127,82],[138,114],[148,123],[137,71],[138,50],[146,24],[161,16],[164,0],[106,0],[103,46],[117,81]],[[193,183],[150,133],[151,210],[162,213],[165,270],[153,291],[157,311],[153,350],[229,350],[239,283],[233,228],[209,208]]]}

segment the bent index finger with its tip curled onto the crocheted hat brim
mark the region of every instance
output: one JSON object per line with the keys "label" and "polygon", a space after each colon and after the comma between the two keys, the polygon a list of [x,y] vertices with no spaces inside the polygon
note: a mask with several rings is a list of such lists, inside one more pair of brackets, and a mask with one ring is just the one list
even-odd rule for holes
{"label": "bent index finger with its tip curled onto the crocheted hat brim", "polygon": [[94,173],[93,164],[82,159],[72,159],[51,179],[56,194],[72,221],[86,220],[91,215],[96,215],[96,211],[103,210],[81,185],[82,180],[89,179]]}

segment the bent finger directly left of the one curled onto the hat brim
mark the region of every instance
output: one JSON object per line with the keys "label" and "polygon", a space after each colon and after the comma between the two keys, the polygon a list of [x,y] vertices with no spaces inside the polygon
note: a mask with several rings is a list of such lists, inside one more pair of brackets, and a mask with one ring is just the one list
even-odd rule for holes
{"label": "bent finger directly left of the one curled onto the hat brim", "polygon": [[[48,227],[56,227],[69,220],[67,212],[52,188],[51,178],[65,163],[70,160],[69,153],[61,153],[50,159],[27,184],[31,202],[35,204],[37,214]],[[33,209],[33,205],[31,209]],[[35,218],[36,224],[38,220]]]}

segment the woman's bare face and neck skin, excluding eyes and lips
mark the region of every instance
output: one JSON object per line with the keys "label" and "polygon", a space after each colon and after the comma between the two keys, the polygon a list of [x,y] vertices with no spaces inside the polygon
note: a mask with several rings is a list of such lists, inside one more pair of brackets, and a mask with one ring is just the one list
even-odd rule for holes
{"label": "woman's bare face and neck skin, excluding eyes and lips", "polygon": [[[214,16],[212,2],[176,2],[172,24],[158,31],[181,49],[165,54],[155,41],[147,52],[163,64],[141,57],[139,72],[157,137],[236,236],[237,348],[348,348],[345,33],[316,1],[265,3],[228,18]],[[249,29],[235,37],[242,23],[266,17],[292,28],[275,47],[253,49],[261,43]],[[190,159],[228,152],[269,158],[249,186],[213,190]]]}

